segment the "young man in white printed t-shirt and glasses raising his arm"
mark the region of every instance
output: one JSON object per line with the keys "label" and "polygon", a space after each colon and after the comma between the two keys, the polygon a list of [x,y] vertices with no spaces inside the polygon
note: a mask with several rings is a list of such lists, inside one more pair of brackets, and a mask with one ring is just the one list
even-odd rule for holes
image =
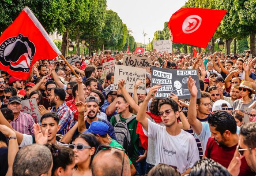
{"label": "young man in white printed t-shirt and glasses raising his arm", "polygon": [[199,160],[199,152],[195,138],[178,126],[178,104],[173,99],[163,99],[160,103],[159,115],[165,126],[154,124],[146,118],[148,102],[160,87],[161,85],[155,85],[149,89],[136,119],[143,126],[145,135],[154,141],[156,165],[173,165],[182,174],[188,174],[190,168]]}

